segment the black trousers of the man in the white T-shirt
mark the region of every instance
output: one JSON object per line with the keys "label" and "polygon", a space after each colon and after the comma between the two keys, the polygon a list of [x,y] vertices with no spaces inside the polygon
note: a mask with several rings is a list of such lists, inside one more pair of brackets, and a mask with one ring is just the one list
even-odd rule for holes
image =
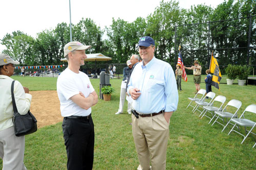
{"label": "black trousers of the man in the white T-shirt", "polygon": [[92,169],[94,153],[94,125],[89,119],[63,118],[68,169]]}

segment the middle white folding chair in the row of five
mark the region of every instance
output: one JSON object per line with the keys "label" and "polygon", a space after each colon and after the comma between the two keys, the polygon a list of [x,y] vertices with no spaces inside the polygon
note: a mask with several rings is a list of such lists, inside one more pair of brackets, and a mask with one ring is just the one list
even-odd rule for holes
{"label": "middle white folding chair in the row of five", "polygon": [[[203,106],[204,112],[202,112],[202,113],[199,115],[199,117],[204,113],[201,118],[203,118],[204,116],[205,116],[205,117],[208,117],[208,118],[210,119],[210,122],[211,122],[211,120],[212,120],[213,118],[207,116],[206,113],[209,112],[209,113],[213,116],[212,112],[222,110],[222,106],[223,106],[223,104],[225,103],[225,101],[226,101],[226,97],[225,97],[225,96],[223,96],[223,95],[218,95],[218,96],[214,99],[214,101],[212,101],[212,103],[210,104],[210,106]],[[220,107],[214,106],[214,105],[215,105],[216,103],[218,103],[218,102],[221,103]],[[210,124],[210,122],[209,122],[208,124]]]}

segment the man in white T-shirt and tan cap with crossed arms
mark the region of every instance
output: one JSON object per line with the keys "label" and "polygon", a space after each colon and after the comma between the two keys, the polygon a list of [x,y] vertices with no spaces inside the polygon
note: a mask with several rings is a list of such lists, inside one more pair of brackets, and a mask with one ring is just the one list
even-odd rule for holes
{"label": "man in white T-shirt and tan cap with crossed arms", "polygon": [[65,45],[66,68],[58,77],[57,93],[63,118],[62,130],[65,140],[68,169],[92,169],[94,155],[94,124],[91,107],[98,102],[89,77],[79,71],[87,58],[91,45],[72,41]]}

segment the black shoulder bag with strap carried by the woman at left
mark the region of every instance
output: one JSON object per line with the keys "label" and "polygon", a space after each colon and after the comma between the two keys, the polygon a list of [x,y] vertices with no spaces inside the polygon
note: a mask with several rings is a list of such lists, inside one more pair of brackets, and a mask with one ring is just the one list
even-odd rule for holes
{"label": "black shoulder bag with strap carried by the woman at left", "polygon": [[34,133],[37,131],[37,120],[35,116],[28,111],[27,114],[21,115],[17,111],[16,103],[15,103],[15,98],[13,94],[13,89],[14,89],[14,82],[12,82],[12,87],[11,87],[11,92],[12,92],[12,106],[13,106],[13,118],[12,122],[14,125],[14,131],[16,136],[24,136],[28,135],[31,133]]}

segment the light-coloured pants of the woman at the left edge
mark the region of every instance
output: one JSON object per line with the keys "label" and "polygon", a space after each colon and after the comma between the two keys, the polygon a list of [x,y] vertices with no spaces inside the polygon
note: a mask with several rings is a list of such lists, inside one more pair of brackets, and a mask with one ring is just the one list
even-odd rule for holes
{"label": "light-coloured pants of the woman at the left edge", "polygon": [[27,169],[23,163],[25,136],[17,137],[13,126],[0,131],[0,157],[3,169]]}

